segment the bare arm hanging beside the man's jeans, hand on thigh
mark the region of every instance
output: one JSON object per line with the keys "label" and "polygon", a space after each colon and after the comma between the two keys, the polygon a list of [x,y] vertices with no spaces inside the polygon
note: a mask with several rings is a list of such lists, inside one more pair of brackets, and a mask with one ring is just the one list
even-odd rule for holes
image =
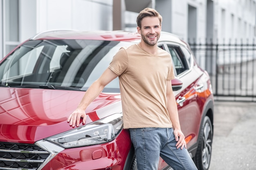
{"label": "bare arm hanging beside the man's jeans, hand on thigh", "polygon": [[177,141],[176,147],[177,149],[181,147],[186,148],[185,136],[180,128],[180,120],[178,115],[177,104],[175,100],[175,96],[173,94],[173,89],[171,86],[171,80],[167,81],[166,87],[166,97],[167,97],[167,110],[170,115],[171,122],[173,124],[173,134],[175,135],[175,139]]}

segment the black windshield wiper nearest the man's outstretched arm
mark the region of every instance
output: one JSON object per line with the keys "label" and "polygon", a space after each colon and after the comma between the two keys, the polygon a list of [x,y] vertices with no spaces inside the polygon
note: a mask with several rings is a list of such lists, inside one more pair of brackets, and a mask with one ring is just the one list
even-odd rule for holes
{"label": "black windshield wiper nearest the man's outstretched arm", "polygon": [[20,85],[20,86],[12,86],[18,88],[44,88],[44,89],[56,89],[56,90],[73,90],[73,91],[82,91],[81,88],[77,87],[69,87],[69,86],[54,86],[54,85]]}

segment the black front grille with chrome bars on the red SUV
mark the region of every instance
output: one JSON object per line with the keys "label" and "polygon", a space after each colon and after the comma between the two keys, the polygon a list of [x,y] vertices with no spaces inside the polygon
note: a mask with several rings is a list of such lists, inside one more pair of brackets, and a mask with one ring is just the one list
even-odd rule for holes
{"label": "black front grille with chrome bars on the red SUV", "polygon": [[36,170],[49,153],[33,144],[0,142],[0,170]]}

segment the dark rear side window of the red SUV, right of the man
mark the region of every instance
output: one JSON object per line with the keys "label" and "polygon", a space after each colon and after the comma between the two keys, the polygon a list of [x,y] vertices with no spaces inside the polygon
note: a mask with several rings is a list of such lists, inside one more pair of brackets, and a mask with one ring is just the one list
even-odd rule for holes
{"label": "dark rear side window of the red SUV, right of the man", "polygon": [[188,70],[189,66],[180,47],[168,44],[168,49],[171,53],[177,75],[180,75],[181,73],[184,73],[186,70]]}

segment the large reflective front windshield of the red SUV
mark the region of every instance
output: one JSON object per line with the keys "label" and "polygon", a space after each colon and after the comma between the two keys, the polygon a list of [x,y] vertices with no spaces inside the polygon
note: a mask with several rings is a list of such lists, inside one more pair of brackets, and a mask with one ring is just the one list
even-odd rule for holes
{"label": "large reflective front windshield of the red SUV", "polygon": [[[121,46],[131,42],[103,40],[30,40],[0,65],[2,86],[88,87],[106,70]],[[119,92],[118,78],[104,92]]]}

